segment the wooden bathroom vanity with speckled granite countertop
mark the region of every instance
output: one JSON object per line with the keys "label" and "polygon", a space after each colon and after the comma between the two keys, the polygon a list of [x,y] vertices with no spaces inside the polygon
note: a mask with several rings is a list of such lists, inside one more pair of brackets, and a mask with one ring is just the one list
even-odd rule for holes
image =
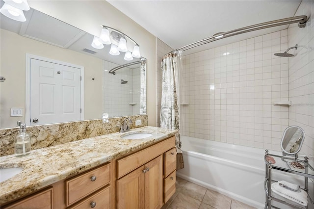
{"label": "wooden bathroom vanity with speckled granite countertop", "polygon": [[[136,132],[153,135],[121,138]],[[1,208],[161,208],[176,189],[175,133],[142,127],[1,157],[24,168],[0,184]]]}

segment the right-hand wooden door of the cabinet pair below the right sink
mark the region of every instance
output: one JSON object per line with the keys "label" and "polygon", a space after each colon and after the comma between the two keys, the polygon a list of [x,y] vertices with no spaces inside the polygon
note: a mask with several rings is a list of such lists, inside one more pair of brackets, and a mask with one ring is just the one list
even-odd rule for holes
{"label": "right-hand wooden door of the cabinet pair below the right sink", "polygon": [[145,209],[162,206],[163,157],[159,156],[145,164]]}

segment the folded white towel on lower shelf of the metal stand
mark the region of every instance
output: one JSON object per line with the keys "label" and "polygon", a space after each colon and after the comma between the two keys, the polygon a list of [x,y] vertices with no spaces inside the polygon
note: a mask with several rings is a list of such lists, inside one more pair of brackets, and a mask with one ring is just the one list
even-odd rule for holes
{"label": "folded white towel on lower shelf of the metal stand", "polygon": [[301,192],[294,192],[284,187],[281,187],[278,182],[271,184],[271,190],[274,193],[302,206],[308,205],[308,194],[304,190],[301,190]]}

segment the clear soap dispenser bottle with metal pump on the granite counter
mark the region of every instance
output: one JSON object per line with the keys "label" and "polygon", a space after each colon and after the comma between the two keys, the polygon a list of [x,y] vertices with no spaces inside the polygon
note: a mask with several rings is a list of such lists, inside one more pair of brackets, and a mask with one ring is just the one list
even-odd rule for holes
{"label": "clear soap dispenser bottle with metal pump on the granite counter", "polygon": [[15,137],[15,150],[16,157],[23,157],[30,153],[30,136],[26,133],[26,124],[20,125],[20,131]]}

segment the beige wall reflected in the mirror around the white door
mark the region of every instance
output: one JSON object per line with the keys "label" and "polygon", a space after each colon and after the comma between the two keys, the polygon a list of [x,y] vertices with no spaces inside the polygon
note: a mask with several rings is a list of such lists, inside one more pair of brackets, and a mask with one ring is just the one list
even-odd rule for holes
{"label": "beige wall reflected in the mirror around the white door", "polygon": [[[101,118],[103,111],[102,60],[62,49],[1,29],[1,128],[25,121],[25,54],[30,53],[84,67],[84,119]],[[91,78],[100,78],[92,80]],[[91,94],[91,92],[93,92]],[[24,108],[23,117],[10,117],[10,108]]]}

